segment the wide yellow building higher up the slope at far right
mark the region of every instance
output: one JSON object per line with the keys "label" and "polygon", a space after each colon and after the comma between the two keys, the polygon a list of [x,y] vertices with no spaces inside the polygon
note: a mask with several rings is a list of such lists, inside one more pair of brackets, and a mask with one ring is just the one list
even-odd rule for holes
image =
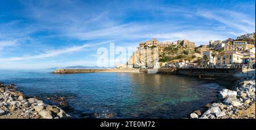
{"label": "wide yellow building higher up the slope at far right", "polygon": [[254,47],[253,44],[247,44],[246,41],[234,41],[233,44],[231,42],[228,42],[224,46],[224,50],[225,51],[245,51],[253,47]]}

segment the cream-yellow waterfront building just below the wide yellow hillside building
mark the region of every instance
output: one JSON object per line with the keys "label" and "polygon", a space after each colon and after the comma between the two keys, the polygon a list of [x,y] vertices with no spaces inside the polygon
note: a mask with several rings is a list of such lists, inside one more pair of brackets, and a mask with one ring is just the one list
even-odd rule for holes
{"label": "cream-yellow waterfront building just below the wide yellow hillside building", "polygon": [[238,51],[225,51],[225,55],[221,57],[217,56],[217,64],[225,65],[225,64],[241,64],[243,55]]}

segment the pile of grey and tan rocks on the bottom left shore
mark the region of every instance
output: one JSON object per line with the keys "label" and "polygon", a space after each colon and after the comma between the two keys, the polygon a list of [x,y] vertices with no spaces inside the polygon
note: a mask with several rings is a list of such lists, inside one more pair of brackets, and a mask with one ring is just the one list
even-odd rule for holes
{"label": "pile of grey and tan rocks on the bottom left shore", "polygon": [[13,112],[18,112],[19,118],[72,118],[57,106],[47,105],[36,98],[27,98],[14,84],[0,83],[0,116],[11,115]]}

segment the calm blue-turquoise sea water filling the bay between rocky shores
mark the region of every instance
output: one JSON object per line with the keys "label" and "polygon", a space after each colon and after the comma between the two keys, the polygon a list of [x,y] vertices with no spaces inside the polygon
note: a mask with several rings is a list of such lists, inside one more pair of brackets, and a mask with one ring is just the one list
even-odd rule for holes
{"label": "calm blue-turquoise sea water filling the bay between rocky shores", "polygon": [[147,73],[52,74],[53,70],[0,70],[0,81],[14,83],[28,96],[69,97],[80,111],[113,111],[115,118],[186,118],[215,99],[216,83]]}

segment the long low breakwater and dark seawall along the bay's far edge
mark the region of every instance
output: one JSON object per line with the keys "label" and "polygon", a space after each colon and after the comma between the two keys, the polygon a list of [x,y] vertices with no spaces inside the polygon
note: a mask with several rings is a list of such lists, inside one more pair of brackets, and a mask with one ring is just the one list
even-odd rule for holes
{"label": "long low breakwater and dark seawall along the bay's far edge", "polygon": [[158,69],[137,69],[137,68],[109,68],[109,69],[56,69],[53,73],[92,73],[92,72],[144,72],[144,73],[167,73],[197,77],[226,77],[242,68],[158,68]]}

